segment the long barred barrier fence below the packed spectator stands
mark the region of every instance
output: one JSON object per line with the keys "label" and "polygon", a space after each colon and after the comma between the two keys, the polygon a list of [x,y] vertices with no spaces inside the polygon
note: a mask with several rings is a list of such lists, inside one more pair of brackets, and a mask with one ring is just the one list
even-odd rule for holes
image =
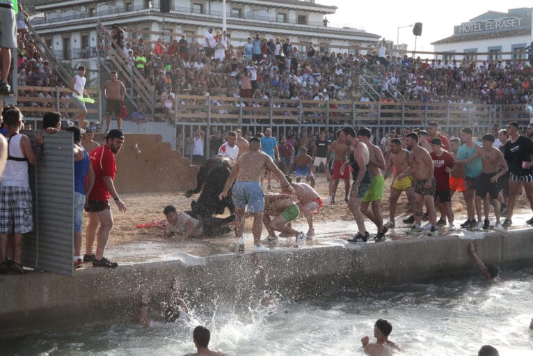
{"label": "long barred barrier fence below the packed spectator stands", "polygon": [[[490,132],[493,124],[517,121],[527,124],[533,116],[527,105],[486,105],[440,102],[356,102],[328,100],[288,100],[228,98],[209,95],[177,95],[175,100],[177,147],[186,147],[186,137],[197,128],[206,132],[205,153],[210,134],[241,128],[243,136],[272,127],[273,135],[305,130],[335,131],[345,125],[369,127],[376,144],[390,130],[401,127],[427,127],[436,121],[449,135],[459,136],[461,127],[472,127],[476,134]],[[397,131],[398,132],[398,131]],[[185,153],[189,153],[186,152]],[[216,154],[216,153],[215,153]],[[189,154],[192,157],[192,153]]]}

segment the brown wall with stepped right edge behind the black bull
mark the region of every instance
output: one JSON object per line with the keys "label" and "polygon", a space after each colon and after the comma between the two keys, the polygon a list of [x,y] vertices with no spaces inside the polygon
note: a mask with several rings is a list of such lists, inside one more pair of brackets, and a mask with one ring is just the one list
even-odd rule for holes
{"label": "brown wall with stepped right edge behind the black bull", "polygon": [[[125,144],[116,155],[114,180],[118,193],[184,192],[196,186],[198,167],[180,151],[172,150],[159,134],[126,134]],[[103,134],[95,141],[104,144]],[[137,148],[136,146],[137,145]],[[140,153],[138,153],[140,150]]]}

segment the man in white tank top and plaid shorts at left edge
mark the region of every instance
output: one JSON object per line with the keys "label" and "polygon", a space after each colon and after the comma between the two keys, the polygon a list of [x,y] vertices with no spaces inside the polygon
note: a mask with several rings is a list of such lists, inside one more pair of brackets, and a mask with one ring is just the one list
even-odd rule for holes
{"label": "man in white tank top and plaid shorts at left edge", "polygon": [[[33,230],[28,164],[38,164],[44,141],[42,134],[35,134],[34,152],[29,137],[19,133],[23,125],[19,109],[6,111],[3,120],[8,125],[9,157],[0,178],[0,274],[8,268],[23,274],[22,235]],[[8,235],[13,238],[13,251],[7,251]]]}

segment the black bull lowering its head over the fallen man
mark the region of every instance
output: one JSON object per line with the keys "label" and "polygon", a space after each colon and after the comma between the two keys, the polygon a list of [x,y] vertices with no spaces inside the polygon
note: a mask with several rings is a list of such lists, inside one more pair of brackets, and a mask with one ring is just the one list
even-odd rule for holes
{"label": "black bull lowering its head over the fallen man", "polygon": [[228,196],[218,199],[218,195],[224,190],[226,179],[233,169],[233,161],[229,158],[214,157],[209,158],[201,166],[196,174],[196,188],[187,190],[185,196],[189,198],[192,194],[202,192],[197,201],[191,201],[191,212],[193,217],[210,217],[214,214],[223,214],[228,208],[230,213],[235,213],[235,206],[231,189]]}

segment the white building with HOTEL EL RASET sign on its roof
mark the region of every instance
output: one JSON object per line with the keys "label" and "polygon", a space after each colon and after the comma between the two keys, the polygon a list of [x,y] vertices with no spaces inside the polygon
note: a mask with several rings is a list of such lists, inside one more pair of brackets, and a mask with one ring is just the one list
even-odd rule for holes
{"label": "white building with HOTEL EL RASET sign on its roof", "polygon": [[[533,8],[488,11],[454,26],[454,34],[431,43],[438,59],[523,59],[533,41]],[[454,53],[458,53],[454,55]]]}

